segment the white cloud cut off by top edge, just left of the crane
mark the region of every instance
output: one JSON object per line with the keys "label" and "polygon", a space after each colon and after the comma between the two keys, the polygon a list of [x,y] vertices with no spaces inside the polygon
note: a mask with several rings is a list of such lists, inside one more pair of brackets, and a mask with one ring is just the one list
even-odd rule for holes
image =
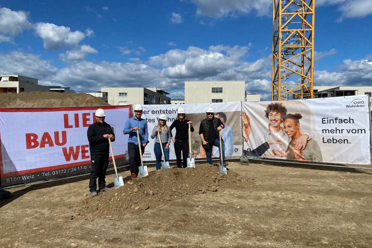
{"label": "white cloud cut off by top edge, just left of the crane", "polygon": [[256,12],[257,16],[269,15],[272,0],[192,0],[196,4],[196,14],[211,18],[244,15]]}

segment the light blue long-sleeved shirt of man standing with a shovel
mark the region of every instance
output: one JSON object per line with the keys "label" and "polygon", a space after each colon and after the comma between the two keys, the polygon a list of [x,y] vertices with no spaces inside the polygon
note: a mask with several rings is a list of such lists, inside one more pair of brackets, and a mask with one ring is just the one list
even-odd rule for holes
{"label": "light blue long-sleeved shirt of man standing with a shovel", "polygon": [[145,119],[140,118],[139,120],[136,117],[132,117],[131,119],[126,120],[124,125],[124,134],[129,134],[128,143],[133,143],[138,145],[138,138],[137,138],[137,131],[132,131],[131,128],[138,126],[140,130],[138,130],[138,134],[140,135],[140,142],[141,145],[144,143],[148,143],[148,128],[147,128],[147,121]]}

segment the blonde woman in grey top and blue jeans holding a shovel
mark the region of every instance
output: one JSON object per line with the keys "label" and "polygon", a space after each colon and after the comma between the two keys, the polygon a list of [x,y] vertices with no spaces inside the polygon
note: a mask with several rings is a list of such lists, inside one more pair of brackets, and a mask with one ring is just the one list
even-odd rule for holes
{"label": "blonde woman in grey top and blue jeans holding a shovel", "polygon": [[[160,133],[160,139],[158,137],[158,133]],[[170,128],[167,126],[167,116],[161,114],[158,117],[158,125],[154,126],[153,132],[151,133],[151,138],[154,139],[155,137],[155,144],[154,144],[154,153],[156,158],[156,170],[161,169],[161,147],[163,147],[164,151],[164,159],[169,161],[169,144],[170,144]]]}

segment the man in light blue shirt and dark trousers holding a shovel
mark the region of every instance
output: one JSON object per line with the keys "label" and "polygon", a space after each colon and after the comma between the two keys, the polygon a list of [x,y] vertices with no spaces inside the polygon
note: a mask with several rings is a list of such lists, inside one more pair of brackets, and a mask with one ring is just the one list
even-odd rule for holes
{"label": "man in light blue shirt and dark trousers holding a shovel", "polygon": [[132,178],[137,177],[138,167],[141,165],[140,149],[138,147],[137,130],[140,135],[140,145],[142,154],[145,151],[145,146],[148,144],[148,128],[147,121],[142,119],[141,104],[134,105],[134,117],[126,120],[123,133],[129,134],[128,139],[128,154],[129,154],[129,168],[131,170]]}

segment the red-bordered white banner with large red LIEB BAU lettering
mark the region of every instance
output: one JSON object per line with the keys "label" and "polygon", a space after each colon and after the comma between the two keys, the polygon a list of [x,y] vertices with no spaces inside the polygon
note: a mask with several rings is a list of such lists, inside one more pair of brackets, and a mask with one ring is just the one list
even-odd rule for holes
{"label": "red-bordered white banner with large red LIEB BAU lettering", "polygon": [[[87,129],[96,122],[97,108],[0,108],[1,187],[88,173]],[[128,137],[122,129],[131,115],[131,106],[102,109],[105,122],[115,131],[115,159],[124,159]],[[125,163],[115,161],[118,165]]]}

